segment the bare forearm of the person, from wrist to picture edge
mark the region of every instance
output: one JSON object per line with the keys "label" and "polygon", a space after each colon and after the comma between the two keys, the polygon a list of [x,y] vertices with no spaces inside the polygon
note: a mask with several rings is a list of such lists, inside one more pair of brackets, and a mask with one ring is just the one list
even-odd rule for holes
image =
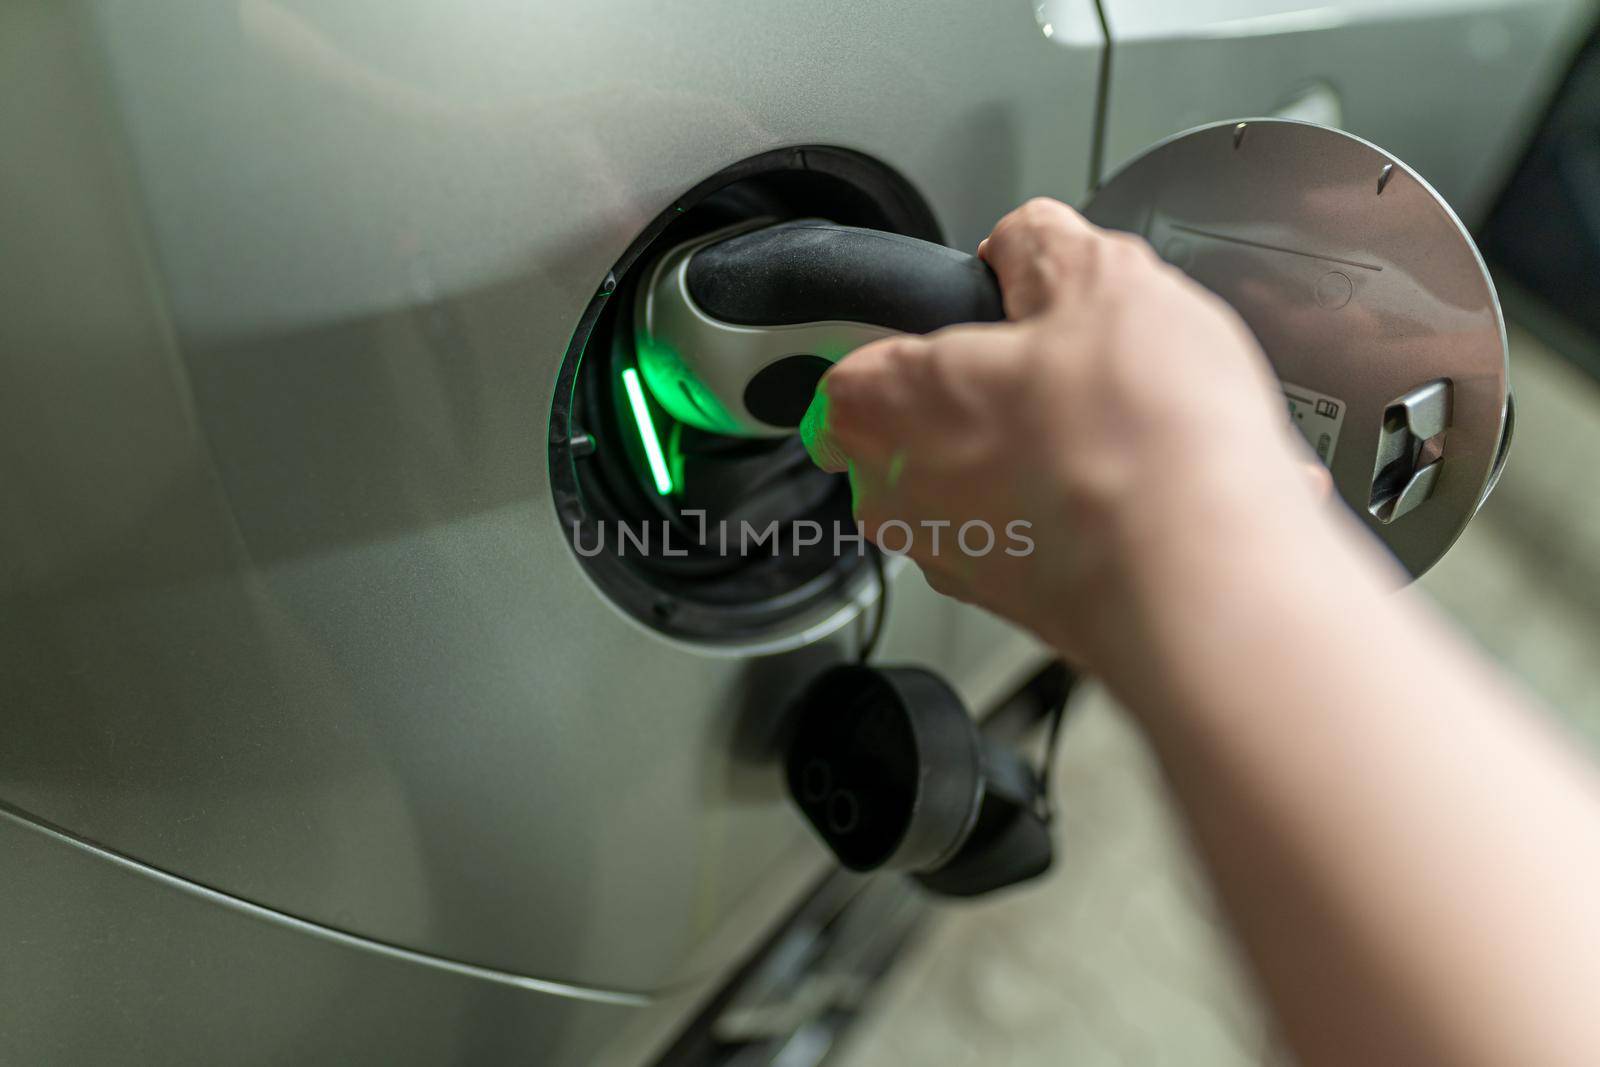
{"label": "bare forearm of the person, from wrist to picture edge", "polygon": [[1358,531],[1293,507],[1243,518],[1200,518],[1141,561],[1139,653],[1106,673],[1296,1051],[1600,1062],[1587,769],[1390,592]]}

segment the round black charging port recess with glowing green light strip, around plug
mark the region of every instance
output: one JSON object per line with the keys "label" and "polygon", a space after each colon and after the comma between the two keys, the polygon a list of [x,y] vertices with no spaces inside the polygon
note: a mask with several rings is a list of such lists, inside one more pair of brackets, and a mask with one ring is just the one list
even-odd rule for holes
{"label": "round black charging port recess with glowing green light strip, around plug", "polygon": [[600,590],[674,637],[742,645],[805,632],[870,571],[872,549],[848,537],[843,477],[811,466],[798,438],[723,437],[675,421],[638,368],[634,306],[656,258],[706,234],[792,218],[939,240],[928,206],[882,163],[829,147],[758,155],[645,229],[586,309],[557,379],[550,480],[568,541]]}

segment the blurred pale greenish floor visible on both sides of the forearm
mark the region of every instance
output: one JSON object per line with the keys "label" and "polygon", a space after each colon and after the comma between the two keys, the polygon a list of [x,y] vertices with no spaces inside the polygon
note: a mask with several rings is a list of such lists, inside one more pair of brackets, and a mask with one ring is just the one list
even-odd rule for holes
{"label": "blurred pale greenish floor visible on both sides of the forearm", "polygon": [[[1600,387],[1512,333],[1517,438],[1494,496],[1421,582],[1600,750]],[[1234,1067],[1272,1051],[1155,768],[1080,693],[1056,768],[1059,859],[944,905],[840,1067]]]}

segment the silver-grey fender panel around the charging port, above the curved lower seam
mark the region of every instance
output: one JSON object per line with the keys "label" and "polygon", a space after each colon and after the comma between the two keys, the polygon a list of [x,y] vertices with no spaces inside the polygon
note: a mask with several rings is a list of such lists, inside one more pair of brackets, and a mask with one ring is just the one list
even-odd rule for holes
{"label": "silver-grey fender panel around the charging port, above the curved lower seam", "polygon": [[[872,152],[965,246],[1075,198],[1098,50],[960,2],[30,3],[0,38],[0,798],[448,958],[722,966],[821,869],[733,741],[830,653],[595,595],[544,470],[568,334],[776,146]],[[901,585],[886,653],[974,704],[1035,654]]]}

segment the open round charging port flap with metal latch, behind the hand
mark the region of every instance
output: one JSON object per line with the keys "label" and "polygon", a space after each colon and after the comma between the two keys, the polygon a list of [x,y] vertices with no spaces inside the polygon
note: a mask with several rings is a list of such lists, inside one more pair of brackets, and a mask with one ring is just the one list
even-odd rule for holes
{"label": "open round charging port flap with metal latch, behind the hand", "polygon": [[1238,310],[1291,422],[1411,574],[1445,553],[1499,475],[1510,390],[1494,283],[1432,186],[1339,130],[1251,118],[1162,141],[1085,214]]}

